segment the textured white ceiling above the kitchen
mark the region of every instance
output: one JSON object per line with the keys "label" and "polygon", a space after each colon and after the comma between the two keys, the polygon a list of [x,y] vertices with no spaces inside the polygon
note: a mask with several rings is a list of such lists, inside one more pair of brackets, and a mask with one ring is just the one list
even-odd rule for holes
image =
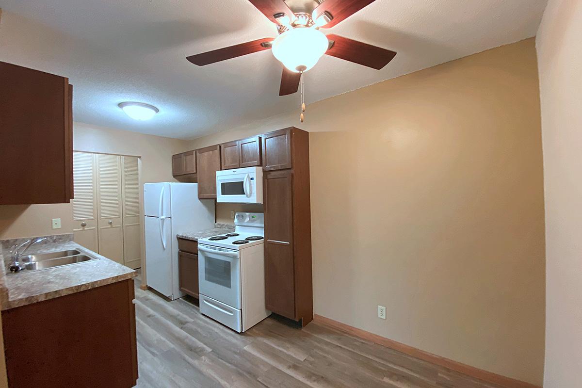
{"label": "textured white ceiling above the kitchen", "polygon": [[[377,0],[329,30],[398,52],[382,70],[324,56],[306,102],[535,35],[546,0]],[[204,67],[186,56],[262,37],[274,24],[247,0],[0,0],[0,60],[68,76],[74,120],[194,138],[296,109],[262,51]],[[127,118],[117,104],[160,113]]]}

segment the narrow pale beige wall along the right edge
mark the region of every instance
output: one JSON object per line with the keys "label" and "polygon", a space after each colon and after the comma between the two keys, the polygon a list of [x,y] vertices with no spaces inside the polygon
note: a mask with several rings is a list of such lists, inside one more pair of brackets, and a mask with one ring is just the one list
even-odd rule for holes
{"label": "narrow pale beige wall along the right edge", "polygon": [[536,39],[546,216],[544,387],[582,386],[582,2],[550,0]]}

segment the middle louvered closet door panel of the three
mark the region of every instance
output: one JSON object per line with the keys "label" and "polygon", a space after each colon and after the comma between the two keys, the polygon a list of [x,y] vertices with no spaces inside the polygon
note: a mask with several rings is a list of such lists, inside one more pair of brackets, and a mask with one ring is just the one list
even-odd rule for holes
{"label": "middle louvered closet door panel of the three", "polygon": [[121,156],[97,154],[99,253],[123,264]]}

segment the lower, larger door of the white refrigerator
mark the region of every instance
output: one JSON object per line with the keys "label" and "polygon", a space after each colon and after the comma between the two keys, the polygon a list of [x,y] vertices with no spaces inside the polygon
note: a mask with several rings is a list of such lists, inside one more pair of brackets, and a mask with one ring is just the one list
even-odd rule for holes
{"label": "lower, larger door of the white refrigerator", "polygon": [[172,298],[171,220],[145,217],[145,265],[147,285]]}

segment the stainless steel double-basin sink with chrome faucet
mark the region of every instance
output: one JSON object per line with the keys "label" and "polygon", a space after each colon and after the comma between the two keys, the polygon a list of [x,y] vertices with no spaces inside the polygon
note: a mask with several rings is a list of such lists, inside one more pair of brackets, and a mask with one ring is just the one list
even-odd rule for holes
{"label": "stainless steel double-basin sink with chrome faucet", "polygon": [[98,260],[98,258],[77,250],[38,253],[20,257],[17,270],[14,270],[13,266],[9,266],[6,273],[26,273],[91,260]]}

